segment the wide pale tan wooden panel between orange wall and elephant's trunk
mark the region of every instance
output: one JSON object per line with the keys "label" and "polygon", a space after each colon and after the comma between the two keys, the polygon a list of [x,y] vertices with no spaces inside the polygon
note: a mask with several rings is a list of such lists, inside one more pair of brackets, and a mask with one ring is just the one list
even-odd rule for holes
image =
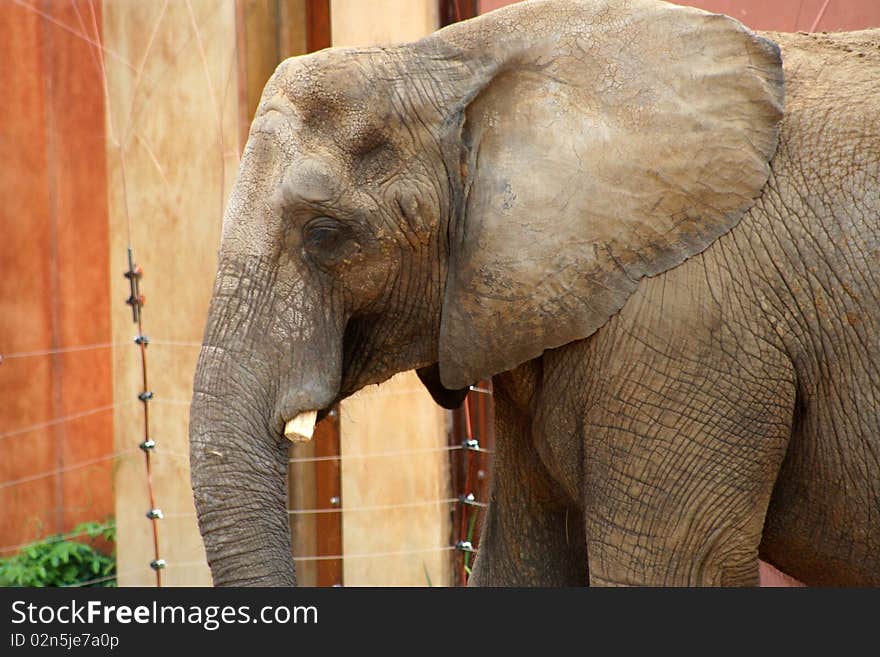
{"label": "wide pale tan wooden panel between orange wall and elephant's trunk", "polygon": [[[190,13],[190,7],[192,13]],[[140,359],[130,345],[126,247],[145,276],[153,473],[165,585],[211,583],[189,476],[189,399],[217,267],[223,207],[238,166],[238,71],[232,0],[106,0],[115,447],[121,585],[151,586],[147,484],[137,450]],[[140,71],[140,73],[139,73]],[[169,344],[173,341],[175,344]],[[130,345],[130,346],[129,346]],[[195,346],[192,346],[195,345]]]}

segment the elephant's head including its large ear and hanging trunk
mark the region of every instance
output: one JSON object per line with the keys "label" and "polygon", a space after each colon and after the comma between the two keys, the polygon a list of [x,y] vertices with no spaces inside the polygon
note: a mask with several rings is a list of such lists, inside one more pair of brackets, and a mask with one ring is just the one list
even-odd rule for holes
{"label": "elephant's head including its large ear and hanging trunk", "polygon": [[282,63],[223,225],[191,411],[217,584],[291,584],[283,428],[422,368],[440,403],[589,336],[768,177],[771,42],[654,0],[512,6]]}

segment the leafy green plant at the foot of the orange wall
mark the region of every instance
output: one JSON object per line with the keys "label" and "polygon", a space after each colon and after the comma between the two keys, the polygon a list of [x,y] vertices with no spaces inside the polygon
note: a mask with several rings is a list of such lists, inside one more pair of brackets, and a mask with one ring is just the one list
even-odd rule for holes
{"label": "leafy green plant at the foot of the orange wall", "polygon": [[116,586],[116,559],[86,542],[85,536],[116,541],[116,524],[84,522],[69,534],[50,536],[0,559],[0,586]]}

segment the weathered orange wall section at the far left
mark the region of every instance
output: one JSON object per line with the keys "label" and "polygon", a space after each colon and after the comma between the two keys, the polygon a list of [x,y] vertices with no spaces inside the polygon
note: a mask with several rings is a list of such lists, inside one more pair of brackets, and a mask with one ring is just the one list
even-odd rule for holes
{"label": "weathered orange wall section at the far left", "polygon": [[14,483],[112,451],[109,410],[20,432],[111,404],[110,350],[16,355],[110,342],[103,92],[72,33],[93,16],[88,0],[0,3],[0,546],[113,509],[109,460]]}

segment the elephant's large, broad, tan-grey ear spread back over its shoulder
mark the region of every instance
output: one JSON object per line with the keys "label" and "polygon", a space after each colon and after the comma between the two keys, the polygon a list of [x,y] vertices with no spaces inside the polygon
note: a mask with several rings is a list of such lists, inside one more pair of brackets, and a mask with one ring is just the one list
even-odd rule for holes
{"label": "elephant's large, broad, tan-grey ear spread back over its shoulder", "polygon": [[779,49],[731,18],[652,0],[535,2],[432,39],[460,144],[447,163],[461,179],[446,388],[591,335],[639,279],[730,230],[767,181]]}

